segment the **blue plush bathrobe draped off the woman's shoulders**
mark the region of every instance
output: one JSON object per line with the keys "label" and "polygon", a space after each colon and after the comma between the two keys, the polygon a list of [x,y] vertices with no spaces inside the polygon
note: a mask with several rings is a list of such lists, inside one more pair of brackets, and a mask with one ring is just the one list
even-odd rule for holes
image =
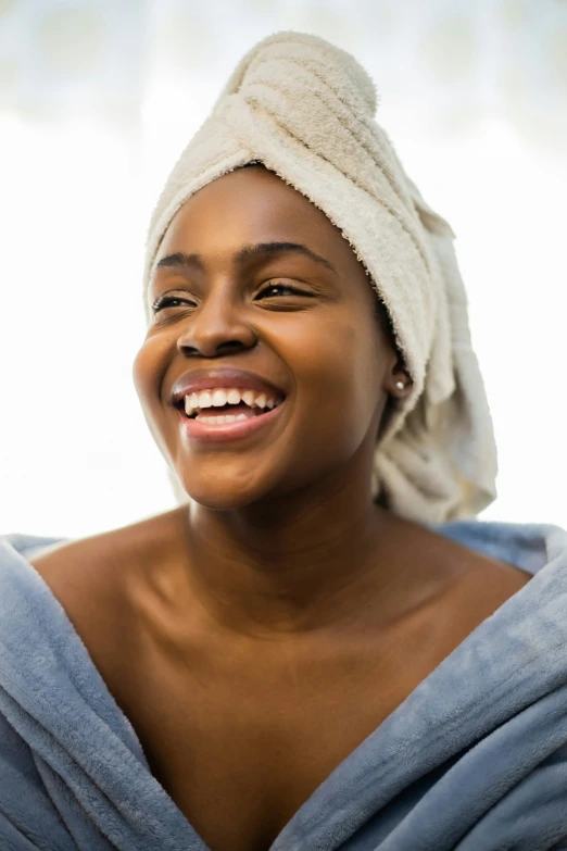
{"label": "blue plush bathrobe draped off the woman's shoulders", "polygon": [[[270,851],[567,849],[567,533],[437,530],[534,577],[332,772]],[[50,542],[0,538],[1,851],[207,851],[26,561]]]}

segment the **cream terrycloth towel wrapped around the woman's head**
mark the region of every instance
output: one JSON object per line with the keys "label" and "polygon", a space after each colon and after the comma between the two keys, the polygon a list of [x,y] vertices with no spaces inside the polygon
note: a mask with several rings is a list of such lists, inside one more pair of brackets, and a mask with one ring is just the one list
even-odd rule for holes
{"label": "cream terrycloth towel wrapped around the woman's head", "polygon": [[[375,122],[373,80],[316,36],[278,33],[239,63],[175,165],[153,213],[148,279],[173,216],[197,190],[261,161],[337,225],[386,304],[414,385],[376,449],[375,495],[424,523],[468,517],[495,497],[496,450],[471,349],[454,234]],[[175,473],[177,498],[185,493]]]}

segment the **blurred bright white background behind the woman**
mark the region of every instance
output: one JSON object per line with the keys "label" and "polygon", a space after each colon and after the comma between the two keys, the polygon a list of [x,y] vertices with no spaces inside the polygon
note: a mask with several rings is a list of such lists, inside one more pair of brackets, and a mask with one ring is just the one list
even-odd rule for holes
{"label": "blurred bright white background behind the woman", "polygon": [[566,0],[0,0],[0,534],[176,502],[131,362],[153,202],[242,54],[315,33],[445,216],[500,450],[482,518],[567,526]]}

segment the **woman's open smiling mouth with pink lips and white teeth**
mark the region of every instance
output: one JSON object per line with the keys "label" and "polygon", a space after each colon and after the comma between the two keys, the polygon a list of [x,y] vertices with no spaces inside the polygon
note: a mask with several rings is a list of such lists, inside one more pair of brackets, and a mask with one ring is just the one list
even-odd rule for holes
{"label": "woman's open smiling mouth with pink lips and white teeth", "polygon": [[191,393],[176,408],[189,437],[218,441],[245,437],[268,425],[284,401],[281,396],[228,388]]}

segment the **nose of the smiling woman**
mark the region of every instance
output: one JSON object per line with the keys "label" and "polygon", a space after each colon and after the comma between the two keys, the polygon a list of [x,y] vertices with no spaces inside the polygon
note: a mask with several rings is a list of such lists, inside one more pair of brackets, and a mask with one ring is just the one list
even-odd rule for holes
{"label": "nose of the smiling woman", "polygon": [[205,299],[187,318],[177,348],[186,358],[217,358],[251,349],[255,342],[243,305],[219,293]]}

